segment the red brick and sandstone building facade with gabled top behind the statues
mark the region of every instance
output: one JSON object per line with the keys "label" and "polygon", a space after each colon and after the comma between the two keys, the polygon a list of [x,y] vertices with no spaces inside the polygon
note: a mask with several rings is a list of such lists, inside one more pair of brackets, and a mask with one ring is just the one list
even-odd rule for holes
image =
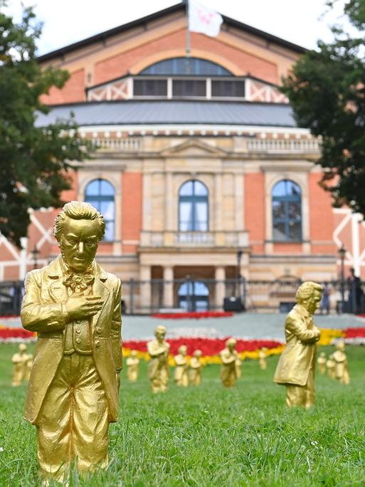
{"label": "red brick and sandstone building facade with gabled top behind the statues", "polygon": [[[347,266],[364,274],[364,224],[332,209],[318,185],[318,141],[296,127],[277,90],[304,50],[224,18],[216,38],[191,34],[186,61],[184,9],[39,58],[69,70],[70,80],[45,97],[53,108],[38,124],[72,111],[80,135],[97,146],[64,199],[86,199],[107,217],[102,265],[122,281],[164,279],[170,308],[184,301],[184,284],[171,281],[187,275],[216,279],[201,292],[220,307],[238,250],[248,280],[332,281],[342,243]],[[35,246],[38,265],[57,253],[56,212],[31,214],[21,252],[0,237],[1,281],[33,268]],[[134,304],[148,308],[156,293],[137,286]]]}

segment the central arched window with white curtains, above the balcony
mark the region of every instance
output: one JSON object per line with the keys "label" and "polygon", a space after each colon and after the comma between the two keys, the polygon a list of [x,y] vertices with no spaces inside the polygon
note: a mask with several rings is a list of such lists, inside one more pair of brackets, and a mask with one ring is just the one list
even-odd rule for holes
{"label": "central arched window with white curtains, above the balcony", "polygon": [[208,231],[208,189],[200,181],[187,181],[180,187],[179,230]]}

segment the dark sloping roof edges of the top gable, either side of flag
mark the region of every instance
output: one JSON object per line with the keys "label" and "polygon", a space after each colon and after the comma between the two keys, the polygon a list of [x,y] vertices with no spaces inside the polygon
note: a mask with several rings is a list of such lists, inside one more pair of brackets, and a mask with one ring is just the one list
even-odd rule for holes
{"label": "dark sloping roof edges of the top gable, either side of flag", "polygon": [[[104,32],[96,34],[95,36],[85,38],[82,41],[72,43],[69,46],[65,46],[63,48],[56,49],[55,51],[51,51],[50,53],[43,54],[43,56],[38,56],[38,61],[39,62],[49,61],[53,58],[57,58],[59,56],[64,56],[65,54],[70,53],[72,51],[75,51],[78,48],[89,46],[90,44],[95,43],[95,42],[105,41],[105,39],[112,37],[112,36],[115,36],[119,33],[123,33],[125,31],[127,31],[129,28],[136,28],[138,26],[147,26],[147,23],[150,21],[154,21],[156,19],[161,19],[165,15],[170,15],[170,14],[174,14],[176,12],[185,11],[185,10],[186,10],[186,4],[185,4],[185,1],[183,0],[180,4],[170,6],[167,9],[159,10],[157,12],[154,12],[154,14],[144,16],[141,19],[137,19],[137,20],[132,21],[132,22],[124,23],[121,26],[111,28],[108,31],[104,31]],[[228,26],[236,27],[242,31],[253,34],[254,36],[259,36],[261,38],[264,38],[266,41],[268,41],[270,43],[278,44],[278,45],[283,46],[285,48],[289,48],[292,51],[295,51],[295,52],[300,53],[300,54],[305,53],[305,51],[307,51],[307,49],[303,48],[302,46],[298,46],[295,43],[285,41],[285,39],[282,39],[282,38],[277,37],[277,36],[273,36],[270,33],[260,31],[260,29],[252,27],[252,26],[248,26],[246,23],[242,23],[242,22],[239,22],[235,19],[231,19],[230,17],[226,17],[225,15],[222,15],[222,17],[223,17],[223,21]]]}

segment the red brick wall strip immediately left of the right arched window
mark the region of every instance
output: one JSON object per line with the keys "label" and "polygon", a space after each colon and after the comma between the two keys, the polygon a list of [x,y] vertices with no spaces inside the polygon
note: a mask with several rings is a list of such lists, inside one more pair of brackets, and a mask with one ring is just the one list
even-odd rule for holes
{"label": "red brick wall strip immediately left of the right arched window", "polygon": [[[265,186],[262,172],[245,174],[245,228],[253,253],[264,252]],[[253,243],[253,241],[260,241]]]}

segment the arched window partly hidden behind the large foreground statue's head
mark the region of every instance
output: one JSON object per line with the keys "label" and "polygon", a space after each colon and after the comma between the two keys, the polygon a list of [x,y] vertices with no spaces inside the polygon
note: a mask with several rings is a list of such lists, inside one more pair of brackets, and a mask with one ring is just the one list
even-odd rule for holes
{"label": "arched window partly hidden behind the large foreground statue's head", "polygon": [[105,179],[94,179],[85,189],[85,201],[92,204],[105,219],[104,240],[114,240],[114,188]]}

